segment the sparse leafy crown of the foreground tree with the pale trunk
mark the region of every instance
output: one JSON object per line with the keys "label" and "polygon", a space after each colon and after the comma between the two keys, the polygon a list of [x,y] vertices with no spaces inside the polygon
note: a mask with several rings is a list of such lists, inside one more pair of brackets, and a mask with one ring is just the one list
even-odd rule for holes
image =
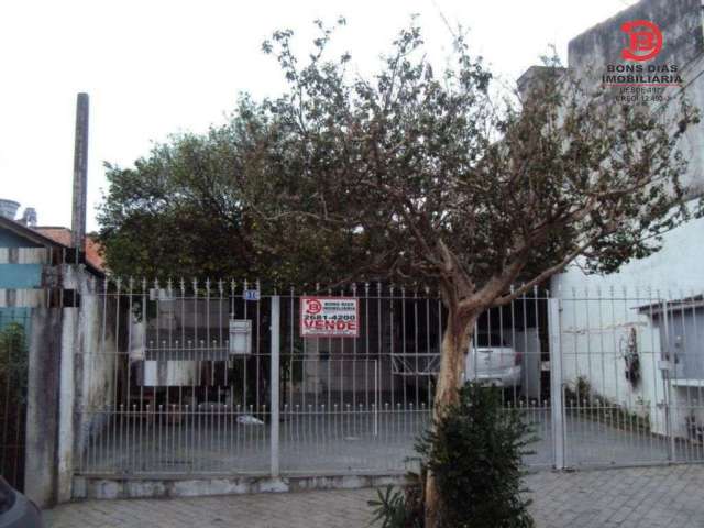
{"label": "sparse leafy crown of the foreground tree with the pale trunk", "polygon": [[501,99],[462,38],[437,75],[417,26],[364,79],[349,74],[348,55],[322,58],[331,32],[321,32],[305,65],[292,32],[265,43],[289,89],[262,106],[271,127],[255,185],[270,199],[251,201],[275,232],[294,221],[344,233],[366,255],[355,276],[420,276],[469,309],[578,256],[614,271],[686,219],[675,151],[695,120],[685,101],[674,118],[610,103],[554,61],[528,97]]}

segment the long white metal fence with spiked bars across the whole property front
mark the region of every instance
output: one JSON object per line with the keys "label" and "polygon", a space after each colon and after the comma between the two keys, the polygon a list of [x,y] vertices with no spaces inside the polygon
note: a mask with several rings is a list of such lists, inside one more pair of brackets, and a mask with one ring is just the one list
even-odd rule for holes
{"label": "long white metal fence with spiked bars across the whole property front", "polygon": [[[394,473],[430,420],[446,314],[362,284],[359,336],[307,338],[300,296],[257,283],[95,284],[77,364],[80,474]],[[666,300],[667,299],[667,300]],[[704,459],[701,296],[550,296],[484,314],[466,376],[503,386],[531,466]]]}

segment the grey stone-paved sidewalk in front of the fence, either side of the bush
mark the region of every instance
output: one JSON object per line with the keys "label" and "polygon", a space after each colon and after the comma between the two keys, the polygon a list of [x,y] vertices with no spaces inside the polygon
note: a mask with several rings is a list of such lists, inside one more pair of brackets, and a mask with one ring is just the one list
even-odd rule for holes
{"label": "grey stone-paved sidewalk in front of the fence, either side of the bush", "polygon": [[[539,528],[704,528],[704,466],[528,475]],[[362,528],[373,490],[89,501],[45,513],[51,528]]]}

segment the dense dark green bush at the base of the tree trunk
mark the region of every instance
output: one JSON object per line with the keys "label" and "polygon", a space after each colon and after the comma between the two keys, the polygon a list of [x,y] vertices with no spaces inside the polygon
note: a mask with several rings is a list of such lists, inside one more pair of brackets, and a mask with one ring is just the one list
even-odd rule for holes
{"label": "dense dark green bush at the base of the tree trunk", "polygon": [[497,388],[464,385],[416,447],[438,483],[438,526],[535,526],[520,484],[534,439],[520,411],[503,408]]}

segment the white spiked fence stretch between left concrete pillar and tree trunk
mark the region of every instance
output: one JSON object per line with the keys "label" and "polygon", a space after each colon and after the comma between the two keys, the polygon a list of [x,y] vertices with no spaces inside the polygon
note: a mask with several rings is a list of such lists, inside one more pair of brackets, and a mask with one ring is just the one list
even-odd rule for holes
{"label": "white spiked fence stretch between left concrete pillar and tree trunk", "polygon": [[[407,469],[430,417],[442,308],[362,284],[356,338],[302,338],[300,295],[258,283],[95,284],[78,352],[80,474]],[[405,363],[404,367],[399,364]]]}

